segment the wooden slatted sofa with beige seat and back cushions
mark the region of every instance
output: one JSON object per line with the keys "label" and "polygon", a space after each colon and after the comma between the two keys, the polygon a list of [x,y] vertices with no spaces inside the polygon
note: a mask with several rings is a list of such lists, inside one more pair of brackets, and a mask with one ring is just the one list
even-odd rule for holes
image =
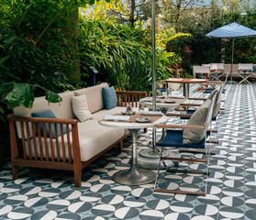
{"label": "wooden slatted sofa with beige seat and back cushions", "polygon": [[[128,137],[125,129],[111,128],[98,124],[104,115],[112,115],[125,110],[126,104],[137,106],[146,92],[117,92],[117,107],[106,110],[102,97],[102,88],[108,84],[84,88],[82,90],[60,93],[61,104],[48,104],[44,97],[36,98],[32,109],[18,106],[14,114],[7,115],[9,121],[12,174],[18,178],[18,167],[33,167],[54,170],[72,170],[74,185],[81,186],[82,170],[98,159],[107,150],[118,145],[122,150],[123,139]],[[72,96],[85,94],[89,111],[93,119],[79,122],[72,113]],[[58,118],[31,117],[31,113],[50,109]],[[46,124],[49,124],[50,137],[47,137]],[[40,126],[43,130],[40,132]],[[53,124],[54,126],[51,126]],[[58,125],[63,126],[61,136],[53,138]],[[39,131],[39,132],[38,132]]]}

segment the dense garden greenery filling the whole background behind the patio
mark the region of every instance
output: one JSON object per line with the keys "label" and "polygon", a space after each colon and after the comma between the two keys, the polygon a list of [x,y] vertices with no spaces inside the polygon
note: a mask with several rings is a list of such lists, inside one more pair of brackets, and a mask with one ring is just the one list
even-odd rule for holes
{"label": "dense garden greenery filling the whole background behind the patio", "polygon": [[[90,83],[90,66],[100,72],[97,82],[109,82],[121,90],[151,90],[151,36],[150,28],[144,26],[150,5],[139,2],[147,4],[144,12],[129,17],[132,25],[117,17],[118,10],[128,12],[127,0],[118,4],[116,0],[0,2],[0,134],[5,139],[0,147],[0,166],[9,146],[7,138],[2,137],[7,137],[5,118],[10,109],[17,105],[31,107],[35,97],[41,95],[49,102],[61,102],[57,93]],[[158,6],[163,23],[156,36],[157,80],[178,73],[189,77],[193,64],[230,62],[230,40],[206,38],[206,33],[233,21],[256,29],[256,7],[226,10],[221,5],[226,2],[230,0],[221,0],[220,5],[211,1],[210,7],[202,7],[201,0],[161,2],[167,8]],[[192,3],[201,5],[184,6]],[[89,13],[94,4],[94,13]],[[81,6],[87,11],[78,20]],[[246,10],[246,16],[241,15],[240,8]],[[236,39],[234,62],[255,59],[255,38]]]}

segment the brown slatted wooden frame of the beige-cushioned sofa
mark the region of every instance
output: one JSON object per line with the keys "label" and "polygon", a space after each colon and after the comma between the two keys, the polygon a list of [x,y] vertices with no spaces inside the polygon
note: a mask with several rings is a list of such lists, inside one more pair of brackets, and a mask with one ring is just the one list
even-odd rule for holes
{"label": "brown slatted wooden frame of the beige-cushioned sofa", "polygon": [[[126,106],[130,103],[132,106],[137,106],[137,103],[141,98],[146,97],[146,92],[117,92],[117,106]],[[12,161],[12,175],[13,180],[18,178],[18,167],[33,167],[42,169],[53,169],[53,170],[72,170],[74,175],[74,185],[76,187],[81,186],[82,181],[82,170],[90,163],[98,159],[107,150],[118,146],[119,151],[122,151],[123,140],[128,137],[125,135],[119,138],[115,143],[105,148],[99,154],[95,155],[92,159],[87,161],[81,161],[81,152],[78,135],[78,121],[76,119],[62,119],[62,118],[41,118],[41,117],[17,117],[13,114],[7,115],[9,121],[9,133],[10,133],[10,145],[11,145],[11,161]],[[17,145],[17,131],[15,123],[19,123],[21,127],[21,142],[22,148],[19,149]],[[40,131],[40,126],[43,126],[42,134],[39,133],[39,146],[36,142],[36,126]],[[49,124],[50,137],[46,134],[46,124]],[[57,134],[57,125],[61,125],[61,140],[55,139],[55,146],[53,145],[53,137],[51,135],[51,124],[54,125],[55,134]],[[24,126],[26,126],[26,134]],[[63,126],[66,127],[67,135],[67,147],[64,144]],[[72,130],[70,131],[70,128]],[[31,134],[31,135],[30,135]],[[31,137],[28,140],[26,148],[26,137]],[[72,148],[71,148],[71,137],[72,137]],[[50,138],[50,146],[47,143],[47,139]],[[59,137],[60,138],[60,137]],[[30,141],[33,141],[31,146]],[[43,142],[42,142],[43,141]],[[60,142],[60,143],[59,143]],[[42,144],[43,143],[43,144]],[[33,149],[32,149],[33,148]],[[39,150],[37,149],[39,148]],[[43,154],[43,148],[45,155]],[[57,151],[57,157],[50,157],[54,155],[54,148]],[[34,154],[32,154],[34,150]],[[60,156],[62,152],[62,157]],[[66,154],[67,150],[67,154]],[[22,153],[19,153],[19,152]],[[39,151],[39,152],[38,152]],[[49,155],[50,153],[50,155]]]}

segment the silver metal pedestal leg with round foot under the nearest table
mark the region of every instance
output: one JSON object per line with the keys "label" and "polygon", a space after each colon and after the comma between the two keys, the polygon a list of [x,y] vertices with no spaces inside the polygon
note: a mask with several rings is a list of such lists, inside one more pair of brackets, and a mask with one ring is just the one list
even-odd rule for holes
{"label": "silver metal pedestal leg with round foot under the nearest table", "polygon": [[113,180],[124,185],[141,185],[154,181],[156,174],[152,170],[139,169],[137,162],[137,139],[140,129],[128,129],[132,137],[132,162],[128,170],[117,171]]}

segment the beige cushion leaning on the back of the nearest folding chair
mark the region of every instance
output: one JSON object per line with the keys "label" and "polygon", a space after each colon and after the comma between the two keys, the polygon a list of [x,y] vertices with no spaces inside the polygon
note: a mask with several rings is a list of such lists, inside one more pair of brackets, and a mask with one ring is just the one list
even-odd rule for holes
{"label": "beige cushion leaning on the back of the nearest folding chair", "polygon": [[[196,109],[195,113],[187,122],[187,126],[205,126],[206,117],[211,107],[211,100],[207,100],[199,108]],[[200,141],[205,137],[206,129],[192,129],[185,128],[183,134],[184,144],[199,144]]]}

